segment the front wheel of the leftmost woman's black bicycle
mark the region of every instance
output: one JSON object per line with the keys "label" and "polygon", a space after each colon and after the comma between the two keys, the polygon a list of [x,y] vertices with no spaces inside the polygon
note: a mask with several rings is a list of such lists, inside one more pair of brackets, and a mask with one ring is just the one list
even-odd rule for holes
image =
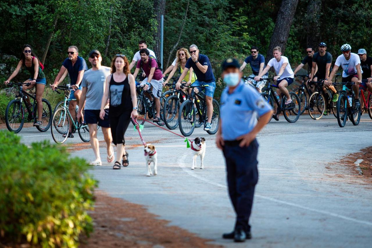
{"label": "front wheel of the leftmost woman's black bicycle", "polygon": [[13,99],[5,109],[5,124],[9,131],[19,133],[25,123],[25,112],[23,111],[22,102]]}

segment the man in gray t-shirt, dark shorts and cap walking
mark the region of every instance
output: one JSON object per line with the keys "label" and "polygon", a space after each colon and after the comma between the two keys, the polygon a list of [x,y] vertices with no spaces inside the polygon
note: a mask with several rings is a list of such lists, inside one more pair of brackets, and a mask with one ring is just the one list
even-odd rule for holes
{"label": "man in gray t-shirt, dark shorts and cap walking", "polygon": [[111,163],[114,160],[114,151],[111,146],[112,136],[109,124],[108,105],[107,108],[105,108],[105,118],[103,120],[99,118],[103,89],[105,88],[106,78],[110,75],[111,69],[110,67],[101,65],[102,57],[98,50],[93,50],[89,53],[89,62],[92,64],[92,68],[84,73],[83,80],[81,81],[83,91],[79,101],[77,119],[79,121],[83,120],[84,108],[84,120],[85,123],[88,124],[90,144],[96,156],[96,160],[91,162],[90,165],[102,165],[97,139],[97,124],[102,127],[103,137],[107,145],[107,162]]}

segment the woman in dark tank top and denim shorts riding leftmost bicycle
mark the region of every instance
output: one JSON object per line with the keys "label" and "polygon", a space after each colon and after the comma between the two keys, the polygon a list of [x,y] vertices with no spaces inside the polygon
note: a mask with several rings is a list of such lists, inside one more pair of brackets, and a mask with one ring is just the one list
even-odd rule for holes
{"label": "woman in dark tank top and denim shorts riding leftmost bicycle", "polygon": [[[33,53],[31,46],[26,44],[23,45],[22,54],[20,56],[20,61],[18,62],[17,68],[13,71],[12,75],[4,81],[5,85],[7,85],[10,80],[12,80],[17,74],[22,66],[25,67],[26,70],[30,72],[30,78],[27,79],[24,83],[31,83],[30,86],[24,86],[23,91],[28,89],[32,89],[36,86],[36,106],[38,108],[38,120],[33,124],[34,126],[41,126],[42,125],[42,111],[43,111],[43,104],[42,104],[42,96],[44,93],[45,84],[47,81],[45,80],[45,74],[40,67],[41,63],[39,58]],[[27,104],[30,106],[31,102],[29,98],[26,98]]]}

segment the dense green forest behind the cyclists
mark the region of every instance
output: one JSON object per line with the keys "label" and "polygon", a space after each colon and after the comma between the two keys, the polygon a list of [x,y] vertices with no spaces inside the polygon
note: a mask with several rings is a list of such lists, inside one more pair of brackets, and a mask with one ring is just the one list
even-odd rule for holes
{"label": "dense green forest behind the cyclists", "polygon": [[294,17],[283,55],[292,68],[301,62],[308,44],[317,48],[320,41],[328,44],[333,60],[344,43],[354,53],[359,48],[372,53],[372,1],[368,0],[7,0],[0,1],[0,77],[9,76],[17,63],[14,57],[9,61],[9,55],[19,58],[26,43],[44,61],[48,83],[58,73],[70,45],[76,45],[86,60],[90,50],[99,49],[107,66],[118,52],[131,61],[141,39],[156,53],[161,13],[163,67],[173,61],[175,47],[197,44],[219,77],[219,64],[226,57],[243,61],[253,45],[263,55],[270,54],[270,40],[279,35],[275,30],[279,9],[283,16],[291,6]]}

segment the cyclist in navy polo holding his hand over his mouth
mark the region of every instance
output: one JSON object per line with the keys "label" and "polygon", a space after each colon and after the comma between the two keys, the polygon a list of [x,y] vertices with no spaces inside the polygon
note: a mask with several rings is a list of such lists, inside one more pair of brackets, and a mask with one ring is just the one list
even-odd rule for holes
{"label": "cyclist in navy polo holding his hand over his mouth", "polygon": [[[176,89],[180,89],[181,82],[185,78],[187,71],[189,71],[190,67],[194,70],[198,80],[196,80],[192,85],[193,86],[201,86],[201,85],[208,85],[205,87],[205,101],[207,104],[207,115],[208,120],[204,126],[204,130],[208,131],[211,129],[211,121],[213,115],[213,105],[212,99],[214,95],[214,90],[216,89],[216,79],[214,78],[212,72],[212,65],[209,62],[208,56],[199,53],[199,49],[195,44],[190,45],[189,51],[191,57],[186,61],[185,70],[181,74],[178,82],[176,83]],[[200,88],[194,88],[196,92],[200,90]]]}

